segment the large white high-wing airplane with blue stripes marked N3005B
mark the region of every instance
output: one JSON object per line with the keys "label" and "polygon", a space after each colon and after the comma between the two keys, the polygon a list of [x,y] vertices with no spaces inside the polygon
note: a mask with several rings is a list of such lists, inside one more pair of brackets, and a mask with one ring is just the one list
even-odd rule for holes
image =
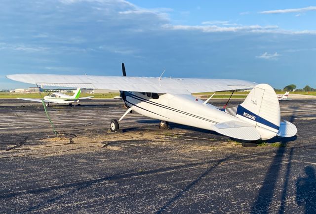
{"label": "large white high-wing airplane with blue stripes marked N3005B", "polygon": [[[73,86],[120,90],[120,97],[128,107],[117,120],[111,120],[110,129],[116,132],[128,113],[136,111],[144,116],[158,119],[159,128],[177,123],[216,131],[220,134],[246,140],[266,140],[275,136],[291,137],[297,128],[290,122],[280,120],[280,106],[274,89],[267,84],[255,85],[242,80],[187,79],[16,74],[7,78],[24,83],[45,86]],[[219,109],[192,93],[252,88],[243,103]]]}

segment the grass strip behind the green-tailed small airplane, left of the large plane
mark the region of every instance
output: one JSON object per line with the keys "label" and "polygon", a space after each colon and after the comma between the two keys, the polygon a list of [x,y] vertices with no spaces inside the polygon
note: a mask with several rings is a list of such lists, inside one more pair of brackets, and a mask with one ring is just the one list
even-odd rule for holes
{"label": "grass strip behind the green-tailed small airplane, left of the large plane", "polygon": [[[74,93],[65,93],[67,95],[73,95]],[[0,98],[35,98],[40,99],[41,97],[47,96],[48,92],[41,93],[0,93]],[[119,93],[81,93],[80,97],[84,96],[94,96],[93,98],[113,98],[115,96],[119,96]]]}

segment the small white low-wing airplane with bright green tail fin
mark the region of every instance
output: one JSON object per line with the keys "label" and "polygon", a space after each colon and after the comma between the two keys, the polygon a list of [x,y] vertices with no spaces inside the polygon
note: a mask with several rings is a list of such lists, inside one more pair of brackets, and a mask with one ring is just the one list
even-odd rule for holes
{"label": "small white low-wing airplane with bright green tail fin", "polygon": [[[43,101],[46,103],[46,106],[49,106],[49,103],[58,103],[58,104],[65,104],[67,103],[69,106],[72,106],[73,103],[78,103],[79,100],[82,99],[91,99],[93,96],[86,96],[86,97],[80,97],[81,89],[80,87],[77,88],[75,91],[75,94],[70,96],[64,93],[58,93],[54,92],[50,95],[44,96]],[[28,101],[34,101],[34,102],[42,102],[41,99],[33,99],[33,98],[17,98],[17,99],[23,99]]]}

